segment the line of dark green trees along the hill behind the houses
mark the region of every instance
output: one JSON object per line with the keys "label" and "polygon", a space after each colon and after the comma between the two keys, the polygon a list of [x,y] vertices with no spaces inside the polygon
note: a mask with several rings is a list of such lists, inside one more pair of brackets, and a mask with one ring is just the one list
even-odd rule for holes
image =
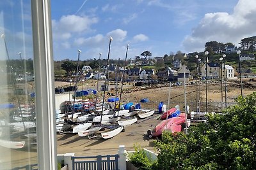
{"label": "line of dark green trees along the hill behind the houses", "polygon": [[[252,36],[249,38],[241,39],[241,42],[239,43],[241,45],[241,49],[243,53],[255,53],[256,49],[256,36]],[[205,43],[205,51],[209,52],[208,58],[209,62],[219,62],[220,58],[222,57],[223,53],[225,53],[225,50],[230,47],[235,47],[232,43],[220,43],[217,41],[209,41]],[[154,62],[154,59],[152,59],[152,53],[149,51],[142,52],[140,56],[134,57],[133,60],[148,60],[152,61],[154,63],[154,66],[150,66],[150,68],[154,68],[156,71],[159,69],[164,69],[166,66],[172,67],[172,62],[175,59],[179,59],[182,61],[182,64],[185,64],[188,66],[191,73],[195,73],[196,70],[196,58],[195,55],[198,55],[198,57],[201,59],[201,62],[205,62],[206,57],[204,55],[204,52],[193,52],[188,55],[187,58],[184,58],[184,55],[182,55],[181,51],[178,51],[176,54],[173,52],[170,52],[170,55],[164,55],[163,60],[157,60],[157,62]],[[230,66],[233,66],[234,68],[238,67],[238,55],[236,53],[226,53],[227,57],[225,59],[225,62],[229,64]],[[130,63],[131,59],[127,60],[127,63]],[[106,65],[107,60],[102,59],[100,60],[100,65]],[[109,60],[109,63],[116,64],[117,66],[124,66],[125,61],[124,60]],[[96,70],[99,68],[99,59],[89,59],[81,61],[79,64],[79,67],[82,68],[83,66],[90,66],[93,70]],[[138,67],[138,66],[133,66]],[[148,67],[148,66],[147,66]],[[256,62],[255,60],[243,60],[241,61],[241,67],[243,68],[252,68],[253,72],[256,71]],[[61,61],[55,61],[54,62],[54,70],[55,74],[65,74],[70,75],[70,73],[76,71],[77,68],[77,61],[76,60],[61,60]]]}

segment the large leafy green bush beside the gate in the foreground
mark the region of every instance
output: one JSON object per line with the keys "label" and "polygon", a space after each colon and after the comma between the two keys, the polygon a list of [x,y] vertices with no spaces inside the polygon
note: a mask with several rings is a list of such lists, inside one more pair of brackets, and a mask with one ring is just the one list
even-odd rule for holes
{"label": "large leafy green bush beside the gate in the foreground", "polygon": [[155,164],[138,149],[132,161],[144,169],[256,169],[256,92],[236,101],[187,135],[163,132]]}

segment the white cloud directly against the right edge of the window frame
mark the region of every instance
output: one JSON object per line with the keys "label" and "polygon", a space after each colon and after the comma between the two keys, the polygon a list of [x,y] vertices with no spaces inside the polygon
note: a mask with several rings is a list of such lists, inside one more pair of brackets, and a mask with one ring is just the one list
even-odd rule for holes
{"label": "white cloud directly against the right edge of the window frame", "polygon": [[91,31],[90,26],[99,21],[97,17],[65,15],[60,20],[52,20],[54,39],[69,39],[72,33]]}

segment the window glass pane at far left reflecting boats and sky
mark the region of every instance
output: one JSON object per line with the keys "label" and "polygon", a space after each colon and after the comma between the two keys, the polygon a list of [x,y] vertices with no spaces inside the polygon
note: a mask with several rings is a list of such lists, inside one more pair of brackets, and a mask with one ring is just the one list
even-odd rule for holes
{"label": "window glass pane at far left reflecting boats and sky", "polygon": [[0,1],[0,169],[37,164],[31,32],[30,1]]}

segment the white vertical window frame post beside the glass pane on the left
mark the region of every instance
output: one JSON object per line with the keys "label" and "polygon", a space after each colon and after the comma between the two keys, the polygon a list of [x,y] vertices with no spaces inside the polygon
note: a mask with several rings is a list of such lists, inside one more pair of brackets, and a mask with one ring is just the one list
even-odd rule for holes
{"label": "white vertical window frame post beside the glass pane on the left", "polygon": [[31,0],[38,169],[57,169],[51,2]]}

